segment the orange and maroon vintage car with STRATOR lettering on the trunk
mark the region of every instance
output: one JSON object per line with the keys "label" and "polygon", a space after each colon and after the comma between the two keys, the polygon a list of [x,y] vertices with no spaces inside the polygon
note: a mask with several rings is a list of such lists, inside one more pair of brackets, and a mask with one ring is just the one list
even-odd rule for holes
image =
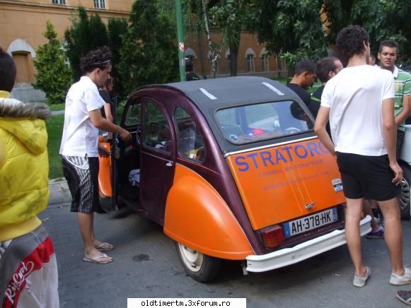
{"label": "orange and maroon vintage car with STRATOR lettering on the trunk", "polygon": [[118,144],[102,191],[163,226],[192,278],[211,280],[221,259],[270,271],[345,244],[335,158],[284,85],[260,77],[148,85],[130,95],[121,125],[134,138]]}

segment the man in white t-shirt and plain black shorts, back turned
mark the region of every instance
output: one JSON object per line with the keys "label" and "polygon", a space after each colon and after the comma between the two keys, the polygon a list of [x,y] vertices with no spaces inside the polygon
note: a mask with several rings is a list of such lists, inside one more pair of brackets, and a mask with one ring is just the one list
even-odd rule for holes
{"label": "man in white t-shirt and plain black shorts, back turned", "polygon": [[[326,148],[337,157],[347,207],[345,235],[355,274],[353,285],[363,287],[371,276],[361,254],[359,222],[364,198],[374,199],[386,218],[386,244],[390,251],[390,283],[411,283],[403,266],[403,235],[397,196],[403,170],[395,155],[393,115],[394,80],[389,71],[367,65],[369,35],[357,25],[337,35],[337,48],[348,59],[347,68],[325,85],[315,130]],[[330,119],[330,136],[325,125]]]}

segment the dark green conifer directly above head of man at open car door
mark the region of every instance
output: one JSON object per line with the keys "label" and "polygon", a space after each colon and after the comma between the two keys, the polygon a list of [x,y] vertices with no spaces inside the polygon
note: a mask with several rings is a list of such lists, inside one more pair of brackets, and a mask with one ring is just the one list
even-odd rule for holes
{"label": "dark green conifer directly above head of man at open car door", "polygon": [[71,28],[64,32],[66,54],[70,61],[74,80],[79,80],[80,58],[89,51],[103,45],[108,45],[108,33],[105,23],[98,14],[87,16],[86,8],[79,6],[79,15],[71,20]]}

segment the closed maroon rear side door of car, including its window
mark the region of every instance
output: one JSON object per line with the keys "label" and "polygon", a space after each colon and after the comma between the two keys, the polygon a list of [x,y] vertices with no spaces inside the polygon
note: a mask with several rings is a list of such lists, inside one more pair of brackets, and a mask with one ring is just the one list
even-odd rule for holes
{"label": "closed maroon rear side door of car, including its window", "polygon": [[151,220],[163,225],[168,191],[175,171],[175,134],[166,109],[143,97],[141,130],[141,207]]}

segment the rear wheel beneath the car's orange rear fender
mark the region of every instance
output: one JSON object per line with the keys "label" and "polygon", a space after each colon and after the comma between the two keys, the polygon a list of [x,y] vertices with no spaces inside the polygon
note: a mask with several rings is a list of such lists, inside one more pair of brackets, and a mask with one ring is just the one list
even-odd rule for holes
{"label": "rear wheel beneath the car's orange rear fender", "polygon": [[185,272],[194,280],[207,283],[218,275],[221,259],[207,256],[178,242],[175,243],[175,248]]}

